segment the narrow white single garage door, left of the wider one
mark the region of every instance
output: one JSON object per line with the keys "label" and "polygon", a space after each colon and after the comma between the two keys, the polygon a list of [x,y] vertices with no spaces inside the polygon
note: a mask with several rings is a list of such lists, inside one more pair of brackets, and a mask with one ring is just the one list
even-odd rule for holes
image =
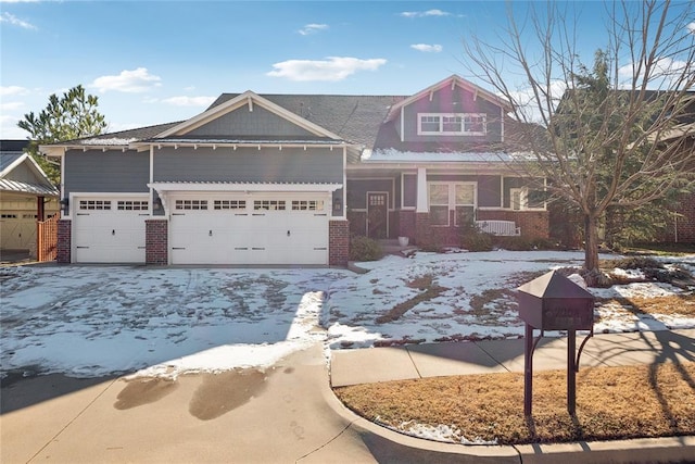
{"label": "narrow white single garage door, left of the wider one", "polygon": [[76,263],[144,263],[144,198],[76,198]]}

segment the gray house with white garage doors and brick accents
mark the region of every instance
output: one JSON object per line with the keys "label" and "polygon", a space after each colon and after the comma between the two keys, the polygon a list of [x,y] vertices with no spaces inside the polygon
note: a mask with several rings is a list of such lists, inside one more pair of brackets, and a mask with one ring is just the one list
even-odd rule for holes
{"label": "gray house with white garage doors and brick accents", "polygon": [[344,265],[351,235],[458,244],[465,221],[545,238],[538,183],[509,165],[508,110],[458,76],[414,96],[247,91],[42,146],[62,163],[58,260]]}

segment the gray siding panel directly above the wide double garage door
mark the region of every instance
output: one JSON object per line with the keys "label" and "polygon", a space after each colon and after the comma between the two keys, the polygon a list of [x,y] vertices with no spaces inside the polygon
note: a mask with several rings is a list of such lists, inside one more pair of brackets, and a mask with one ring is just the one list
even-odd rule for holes
{"label": "gray siding panel directly above the wide double garage door", "polygon": [[343,181],[342,150],[301,148],[162,148],[154,151],[155,181]]}

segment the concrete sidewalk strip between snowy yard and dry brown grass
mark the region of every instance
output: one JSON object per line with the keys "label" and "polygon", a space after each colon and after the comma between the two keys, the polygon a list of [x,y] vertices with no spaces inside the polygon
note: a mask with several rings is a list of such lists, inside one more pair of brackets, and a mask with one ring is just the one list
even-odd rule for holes
{"label": "concrete sidewalk strip between snowy yard and dry brown grass", "polygon": [[[534,335],[538,337],[539,331]],[[577,347],[584,339],[577,335]],[[582,351],[579,368],[695,361],[695,329],[599,334]],[[368,368],[367,368],[368,366]],[[567,339],[542,338],[533,372],[567,369]],[[336,350],[332,387],[467,374],[523,372],[523,340],[422,343],[397,348]]]}

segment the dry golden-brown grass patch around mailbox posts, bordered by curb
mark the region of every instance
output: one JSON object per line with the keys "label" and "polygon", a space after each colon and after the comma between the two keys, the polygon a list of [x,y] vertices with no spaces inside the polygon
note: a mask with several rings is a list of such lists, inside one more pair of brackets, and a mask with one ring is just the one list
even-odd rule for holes
{"label": "dry golden-brown grass patch around mailbox posts, bordered by curb", "polygon": [[336,388],[357,414],[396,429],[448,425],[468,440],[501,444],[695,435],[695,363],[583,368],[577,414],[567,412],[565,371],[533,376],[523,416],[520,373],[435,377]]}

